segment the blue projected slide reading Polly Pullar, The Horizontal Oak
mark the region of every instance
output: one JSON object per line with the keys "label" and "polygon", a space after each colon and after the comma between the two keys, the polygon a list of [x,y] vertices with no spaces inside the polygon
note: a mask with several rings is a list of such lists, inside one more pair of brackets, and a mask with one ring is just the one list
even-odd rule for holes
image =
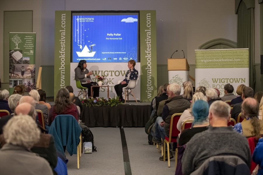
{"label": "blue projected slide reading Polly Pullar, The Horizontal Oak", "polygon": [[73,15],[72,62],[128,62],[138,55],[138,15]]}

